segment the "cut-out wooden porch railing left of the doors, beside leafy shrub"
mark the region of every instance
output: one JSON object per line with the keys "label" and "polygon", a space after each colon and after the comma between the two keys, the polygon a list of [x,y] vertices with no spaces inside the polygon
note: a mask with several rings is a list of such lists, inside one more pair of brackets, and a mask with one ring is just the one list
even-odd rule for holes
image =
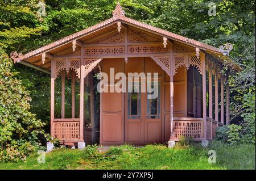
{"label": "cut-out wooden porch railing left of the doors, beside leafy shrub", "polygon": [[77,119],[53,119],[53,137],[59,138],[61,142],[79,141],[80,122]]}

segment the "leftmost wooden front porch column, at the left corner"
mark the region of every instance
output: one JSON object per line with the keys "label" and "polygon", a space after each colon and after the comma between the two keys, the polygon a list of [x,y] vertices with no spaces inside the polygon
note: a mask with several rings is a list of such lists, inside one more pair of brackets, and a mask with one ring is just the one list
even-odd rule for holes
{"label": "leftmost wooden front porch column, at the left corner", "polygon": [[51,60],[51,136],[54,136],[53,133],[53,119],[54,119],[54,88],[55,88],[55,79],[54,79],[54,73],[55,73],[55,64],[54,60]]}

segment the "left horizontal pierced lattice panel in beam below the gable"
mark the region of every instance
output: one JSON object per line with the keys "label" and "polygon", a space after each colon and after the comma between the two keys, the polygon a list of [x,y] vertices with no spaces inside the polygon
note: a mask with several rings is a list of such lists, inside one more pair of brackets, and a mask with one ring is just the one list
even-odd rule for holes
{"label": "left horizontal pierced lattice panel in beam below the gable", "polygon": [[125,47],[87,47],[85,54],[125,54]]}

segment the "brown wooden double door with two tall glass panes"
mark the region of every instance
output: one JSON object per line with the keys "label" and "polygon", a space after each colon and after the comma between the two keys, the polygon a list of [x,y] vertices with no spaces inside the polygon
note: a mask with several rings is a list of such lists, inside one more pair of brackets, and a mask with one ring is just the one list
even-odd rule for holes
{"label": "brown wooden double door with two tall glass panes", "polygon": [[[158,96],[148,99],[152,93],[127,92],[125,96],[125,142],[148,144],[162,142],[161,85],[158,82]],[[134,90],[134,88],[133,88]]]}

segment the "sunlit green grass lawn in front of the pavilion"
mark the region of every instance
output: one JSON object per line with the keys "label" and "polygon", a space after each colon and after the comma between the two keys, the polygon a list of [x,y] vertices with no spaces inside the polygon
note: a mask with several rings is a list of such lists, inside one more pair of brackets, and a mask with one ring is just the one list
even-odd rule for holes
{"label": "sunlit green grass lawn in front of the pavilion", "polygon": [[[208,151],[216,151],[216,163],[208,163]],[[46,154],[46,163],[31,154],[26,162],[0,163],[0,169],[255,169],[255,145],[211,144],[177,146],[113,146],[99,153],[92,146],[84,150],[56,149]]]}

